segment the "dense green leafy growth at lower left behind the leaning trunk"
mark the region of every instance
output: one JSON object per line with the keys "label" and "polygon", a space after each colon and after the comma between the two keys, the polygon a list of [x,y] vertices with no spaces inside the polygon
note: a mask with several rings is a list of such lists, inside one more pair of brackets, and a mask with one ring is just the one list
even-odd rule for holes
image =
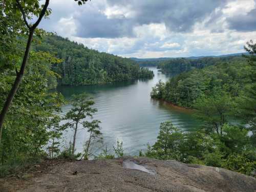
{"label": "dense green leafy growth at lower left behind the leaning trunk", "polygon": [[[47,76],[54,76],[44,63],[50,55],[31,53],[23,83],[17,91],[13,105],[6,116],[0,153],[2,164],[18,159],[44,154],[42,147],[49,141],[46,125],[59,112],[63,97],[49,92]],[[54,57],[52,57],[54,60]],[[0,73],[0,103],[5,100],[12,86],[15,72]]]}

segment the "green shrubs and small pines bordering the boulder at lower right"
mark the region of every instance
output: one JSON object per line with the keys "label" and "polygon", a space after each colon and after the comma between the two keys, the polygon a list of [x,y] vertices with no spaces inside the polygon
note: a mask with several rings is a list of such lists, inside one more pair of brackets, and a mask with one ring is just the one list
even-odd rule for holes
{"label": "green shrubs and small pines bordering the boulder at lower right", "polygon": [[184,133],[167,121],[161,123],[157,142],[153,146],[148,144],[145,156],[223,167],[253,175],[256,171],[255,152],[248,130],[243,127],[225,124],[222,135],[202,131]]}

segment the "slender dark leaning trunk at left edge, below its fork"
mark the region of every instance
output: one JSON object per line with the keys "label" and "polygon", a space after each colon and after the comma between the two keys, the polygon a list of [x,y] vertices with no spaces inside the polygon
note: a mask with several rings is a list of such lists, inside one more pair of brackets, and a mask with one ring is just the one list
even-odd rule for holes
{"label": "slender dark leaning trunk at left edge, below its fork", "polygon": [[34,29],[29,31],[29,38],[27,41],[27,47],[26,47],[26,51],[25,51],[24,58],[22,61],[22,66],[20,67],[20,71],[16,75],[16,79],[14,81],[12,89],[9,92],[9,95],[5,101],[4,107],[0,114],[0,144],[2,142],[2,133],[3,133],[3,125],[4,125],[5,116],[9,110],[11,103],[12,103],[13,97],[15,96],[15,94],[18,90],[20,82],[22,82],[22,78],[23,78],[23,75],[25,72],[26,64],[27,64],[28,57],[29,57],[29,50],[30,50],[32,39],[33,39],[33,34],[34,34]]}

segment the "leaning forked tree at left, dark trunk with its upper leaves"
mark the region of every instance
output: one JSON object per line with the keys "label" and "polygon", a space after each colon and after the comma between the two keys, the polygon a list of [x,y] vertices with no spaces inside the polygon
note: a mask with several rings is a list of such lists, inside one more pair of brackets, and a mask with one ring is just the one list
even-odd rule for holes
{"label": "leaning forked tree at left, dark trunk with its upper leaves", "polygon": [[[77,0],[75,0],[77,1]],[[78,5],[82,5],[82,3],[86,3],[88,0],[79,0]],[[4,46],[4,49],[1,48],[0,53],[5,53],[6,56],[1,57],[1,60],[4,58],[4,60],[9,61],[7,63],[13,63],[17,61],[17,56],[10,56],[10,52],[16,53],[16,51],[12,52],[12,46],[15,46],[16,40],[13,40],[17,38],[18,36],[27,36],[27,45],[24,52],[24,56],[22,59],[22,62],[19,65],[15,63],[15,71],[16,71],[16,77],[12,84],[12,87],[8,93],[8,96],[5,100],[3,109],[0,113],[0,144],[2,142],[2,133],[3,133],[3,125],[4,120],[7,115],[7,112],[10,108],[10,105],[12,103],[12,100],[20,86],[20,83],[22,82],[25,69],[27,66],[27,61],[29,59],[29,53],[30,53],[30,47],[32,44],[32,39],[34,36],[34,33],[36,35],[40,35],[42,33],[42,30],[37,29],[37,26],[41,22],[41,19],[44,16],[48,16],[51,13],[51,10],[48,9],[50,0],[46,0],[44,5],[40,6],[39,0],[12,0],[12,1],[4,1],[0,3],[0,17],[1,21],[3,20],[3,25],[1,25],[1,35],[0,39],[5,39],[3,42],[6,44]],[[34,24],[31,24],[31,20],[33,18],[37,18],[36,22]],[[13,20],[9,20],[13,19]],[[22,23],[24,22],[24,23]],[[1,22],[2,24],[2,22]],[[3,45],[1,42],[1,45]],[[15,48],[14,48],[15,50]],[[6,59],[7,58],[7,59]],[[1,64],[2,66],[2,64]]]}

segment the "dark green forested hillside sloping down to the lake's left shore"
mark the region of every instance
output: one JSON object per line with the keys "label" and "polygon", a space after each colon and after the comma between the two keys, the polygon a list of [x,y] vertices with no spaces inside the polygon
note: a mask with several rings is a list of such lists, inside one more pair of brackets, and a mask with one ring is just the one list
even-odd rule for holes
{"label": "dark green forested hillside sloping down to the lake's left shore", "polygon": [[138,78],[152,78],[153,73],[127,58],[88,49],[56,35],[44,36],[35,51],[47,51],[62,59],[52,70],[59,75],[62,85],[87,85],[123,81]]}

